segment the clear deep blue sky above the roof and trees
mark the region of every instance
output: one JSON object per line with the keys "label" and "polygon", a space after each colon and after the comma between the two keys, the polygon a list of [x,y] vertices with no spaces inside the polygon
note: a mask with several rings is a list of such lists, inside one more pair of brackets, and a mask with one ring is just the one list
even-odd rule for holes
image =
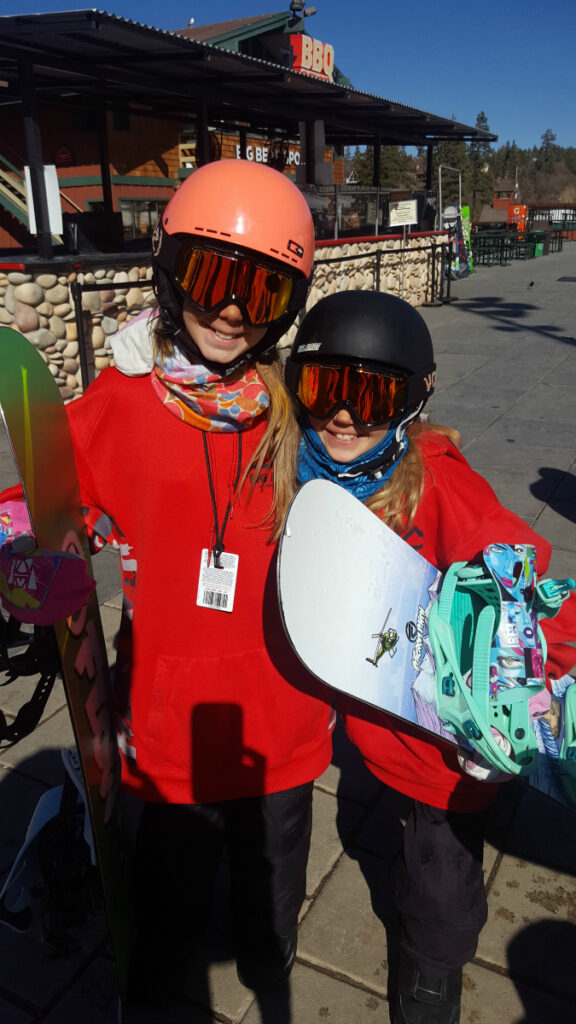
{"label": "clear deep blue sky above the roof and trees", "polygon": [[[99,9],[157,29],[275,13],[289,0],[102,0]],[[312,5],[312,4],[311,4]],[[0,0],[0,13],[88,7],[74,0]],[[574,0],[316,0],[308,34],[332,43],[357,89],[474,125],[485,111],[498,144],[540,144],[546,129],[576,145]],[[476,7],[476,9],[475,9]]]}

